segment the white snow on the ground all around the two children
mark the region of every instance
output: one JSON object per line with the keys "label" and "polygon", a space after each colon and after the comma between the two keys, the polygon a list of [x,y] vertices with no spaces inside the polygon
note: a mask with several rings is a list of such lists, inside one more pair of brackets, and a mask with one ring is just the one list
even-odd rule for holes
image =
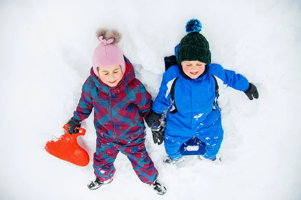
{"label": "white snow on the ground all around the two children", "polygon": [[[0,2],[0,199],[301,199],[300,0],[2,0]],[[117,28],[136,77],[156,97],[164,56],[203,24],[212,62],[253,82],[259,99],[226,88],[219,98],[222,162],[188,157],[163,163],[146,147],[168,191],[156,194],[119,153],[114,180],[91,191],[93,114],[82,137],[90,163],[79,167],[44,149],[64,133],[88,77],[99,27]]]}

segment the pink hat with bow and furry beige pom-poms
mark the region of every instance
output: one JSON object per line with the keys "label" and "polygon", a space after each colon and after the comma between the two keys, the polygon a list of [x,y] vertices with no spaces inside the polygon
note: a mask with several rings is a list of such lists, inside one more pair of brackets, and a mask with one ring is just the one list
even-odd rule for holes
{"label": "pink hat with bow and furry beige pom-poms", "polygon": [[122,51],[114,45],[121,39],[121,34],[115,30],[99,29],[96,32],[100,44],[93,52],[93,70],[98,76],[97,67],[120,65],[122,73],[125,72],[125,61]]}

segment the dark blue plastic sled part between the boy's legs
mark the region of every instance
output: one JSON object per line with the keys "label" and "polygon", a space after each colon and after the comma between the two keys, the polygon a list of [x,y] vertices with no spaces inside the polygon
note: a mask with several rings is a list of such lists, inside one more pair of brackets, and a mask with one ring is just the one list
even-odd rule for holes
{"label": "dark blue plastic sled part between the boy's legs", "polygon": [[203,155],[206,152],[206,144],[198,137],[191,137],[180,147],[182,155]]}

